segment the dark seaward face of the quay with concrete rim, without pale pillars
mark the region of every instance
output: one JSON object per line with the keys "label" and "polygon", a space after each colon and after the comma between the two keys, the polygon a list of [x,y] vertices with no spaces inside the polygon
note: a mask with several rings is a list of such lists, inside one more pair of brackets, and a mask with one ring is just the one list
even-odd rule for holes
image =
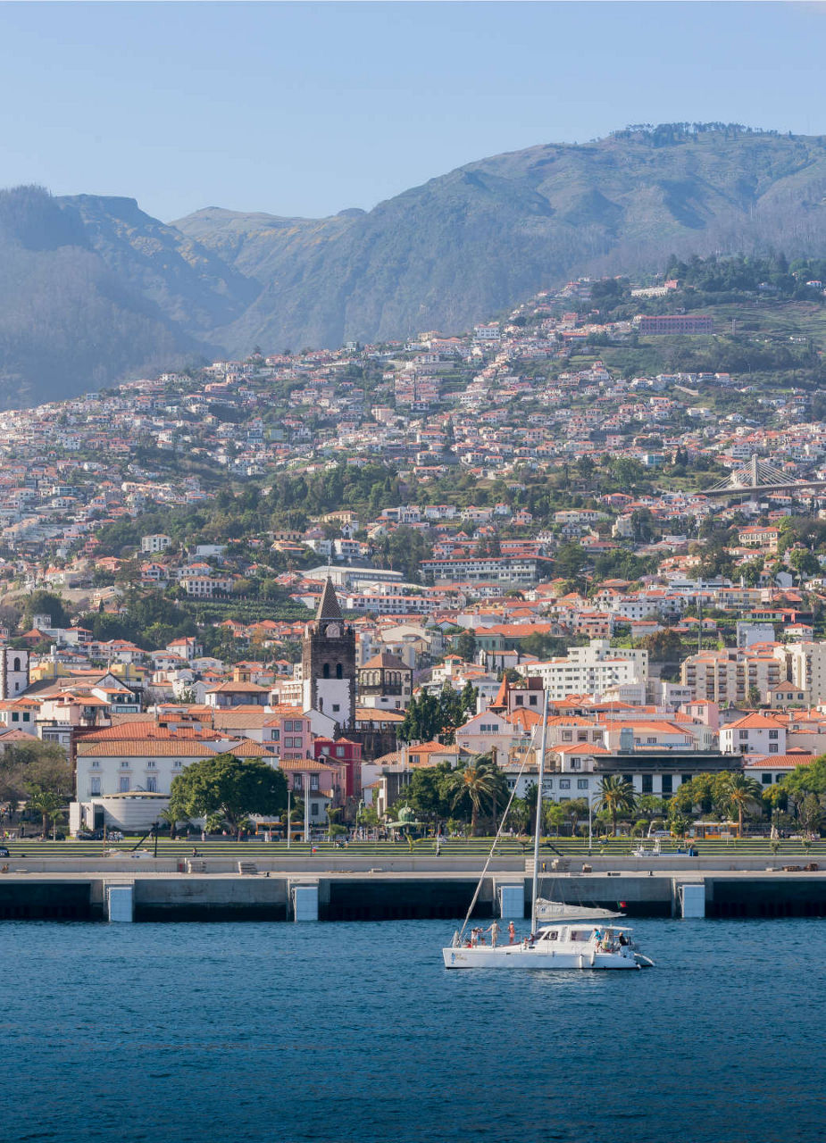
{"label": "dark seaward face of the quay with concrete rim, without pale pillars", "polygon": [[[134,919],[267,920],[292,917],[290,890],[318,889],[318,917],[323,921],[454,919],[467,912],[478,878],[463,872],[347,871],[289,873],[177,873],[144,870],[114,872],[109,866],[88,874],[9,872],[0,878],[0,920],[102,920],[106,887],[130,886]],[[521,887],[508,910],[529,911],[530,878],[524,869],[496,871],[481,884],[473,916],[499,912],[498,888]],[[555,872],[539,880],[542,896],[574,905],[598,905],[634,917],[680,914],[680,886],[701,885],[708,918],[826,917],[826,872],[645,871]],[[518,919],[515,916],[513,919]]]}

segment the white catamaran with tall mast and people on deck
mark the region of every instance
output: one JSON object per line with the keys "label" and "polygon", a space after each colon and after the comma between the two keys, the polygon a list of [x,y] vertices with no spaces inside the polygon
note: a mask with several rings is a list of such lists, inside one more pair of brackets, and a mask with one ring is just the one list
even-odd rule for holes
{"label": "white catamaran with tall mast and people on deck", "polygon": [[[653,966],[653,961],[637,951],[632,932],[624,926],[610,924],[619,913],[607,909],[584,909],[559,901],[546,901],[538,895],[539,885],[539,836],[542,831],[543,782],[545,777],[545,745],[547,738],[547,692],[542,722],[542,745],[539,748],[539,789],[537,791],[536,830],[534,834],[534,878],[531,885],[530,933],[521,940],[508,936],[507,944],[498,943],[498,924],[491,932],[491,943],[484,943],[484,930],[471,929],[465,936],[467,922],[479,896],[488,865],[499,840],[507,809],[503,815],[488,861],[473,895],[471,908],[462,928],[452,943],[442,949],[446,968],[508,968],[508,969],[640,969]],[[527,754],[526,754],[527,757]],[[515,786],[514,786],[515,793]],[[513,794],[511,796],[513,801]],[[507,808],[510,809],[511,802]],[[599,914],[599,916],[595,916]],[[550,924],[538,925],[538,921]],[[609,924],[606,924],[608,921]]]}

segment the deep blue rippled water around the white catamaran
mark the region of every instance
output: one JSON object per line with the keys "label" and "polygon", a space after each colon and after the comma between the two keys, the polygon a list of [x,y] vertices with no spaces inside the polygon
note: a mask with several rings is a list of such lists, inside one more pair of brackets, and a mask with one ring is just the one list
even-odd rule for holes
{"label": "deep blue rippled water around the white catamaran", "polygon": [[507,974],[443,921],[7,921],[0,1136],[820,1140],[826,925],[634,928],[656,969]]}

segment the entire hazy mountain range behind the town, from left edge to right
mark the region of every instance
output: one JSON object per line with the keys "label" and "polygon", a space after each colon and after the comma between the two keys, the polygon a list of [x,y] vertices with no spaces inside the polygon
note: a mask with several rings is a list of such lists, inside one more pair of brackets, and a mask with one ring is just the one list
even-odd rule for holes
{"label": "entire hazy mountain range behind the town, from left edge to right", "polygon": [[0,407],[158,366],[468,328],[582,273],[667,255],[826,253],[826,137],[665,125],[546,144],[372,210],[215,207],[165,224],[133,199],[0,192]]}

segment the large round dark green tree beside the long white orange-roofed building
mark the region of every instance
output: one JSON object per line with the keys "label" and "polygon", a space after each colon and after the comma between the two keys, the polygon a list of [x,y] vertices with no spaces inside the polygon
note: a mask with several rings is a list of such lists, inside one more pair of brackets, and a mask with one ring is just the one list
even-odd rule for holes
{"label": "large round dark green tree beside the long white orange-roofed building", "polygon": [[259,758],[216,754],[173,780],[169,812],[179,821],[219,814],[231,830],[249,814],[278,815],[287,806],[287,780]]}

